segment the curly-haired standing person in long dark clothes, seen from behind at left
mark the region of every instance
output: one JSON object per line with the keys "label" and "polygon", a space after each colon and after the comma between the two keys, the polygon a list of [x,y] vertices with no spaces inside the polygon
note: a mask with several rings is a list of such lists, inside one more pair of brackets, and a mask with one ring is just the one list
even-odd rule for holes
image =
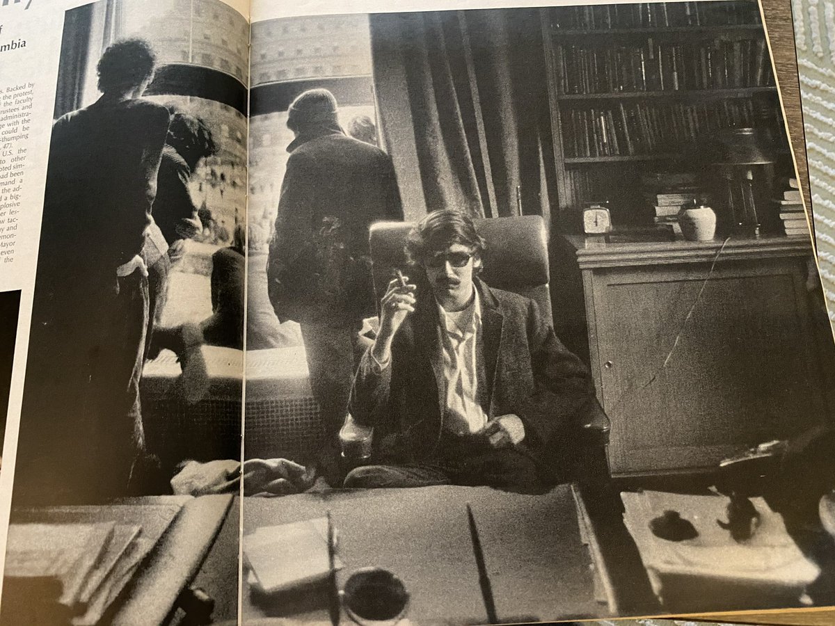
{"label": "curly-haired standing person in long dark clothes, seen from behind at left", "polygon": [[140,253],[169,112],[140,98],[148,43],[99,59],[101,97],[53,125],[16,502],[99,502],[145,491],[139,406],[148,271]]}

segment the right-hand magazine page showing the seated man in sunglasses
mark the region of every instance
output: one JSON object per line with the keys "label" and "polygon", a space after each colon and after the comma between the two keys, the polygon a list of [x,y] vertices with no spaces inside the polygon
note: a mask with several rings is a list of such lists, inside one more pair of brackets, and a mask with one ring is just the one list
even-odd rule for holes
{"label": "right-hand magazine page showing the seated man in sunglasses", "polygon": [[789,4],[527,4],[252,4],[243,623],[835,603]]}

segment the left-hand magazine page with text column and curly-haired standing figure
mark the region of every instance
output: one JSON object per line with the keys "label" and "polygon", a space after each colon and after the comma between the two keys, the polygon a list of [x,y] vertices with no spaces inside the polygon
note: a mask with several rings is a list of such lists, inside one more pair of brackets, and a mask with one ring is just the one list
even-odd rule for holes
{"label": "left-hand magazine page with text column and curly-haired standing figure", "polygon": [[234,618],[248,4],[3,3],[0,68],[0,622]]}

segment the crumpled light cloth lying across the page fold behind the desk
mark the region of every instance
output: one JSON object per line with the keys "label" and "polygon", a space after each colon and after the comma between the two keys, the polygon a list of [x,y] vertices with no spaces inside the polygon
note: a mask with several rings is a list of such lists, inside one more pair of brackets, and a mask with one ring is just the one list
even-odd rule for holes
{"label": "crumpled light cloth lying across the page fold behind the desk", "polygon": [[205,496],[240,492],[243,477],[245,496],[275,497],[301,493],[313,486],[316,470],[284,458],[210,462],[189,461],[171,479],[175,495]]}

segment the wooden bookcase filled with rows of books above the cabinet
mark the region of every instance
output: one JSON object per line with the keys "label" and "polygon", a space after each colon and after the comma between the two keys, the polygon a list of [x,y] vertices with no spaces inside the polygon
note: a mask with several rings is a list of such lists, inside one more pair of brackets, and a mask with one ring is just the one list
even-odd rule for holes
{"label": "wooden bookcase filled with rows of books above the cabinet", "polygon": [[[540,16],[563,230],[584,202],[651,221],[642,174],[686,172],[724,129],[782,136],[756,0],[553,7]],[[649,210],[649,213],[648,213]]]}

